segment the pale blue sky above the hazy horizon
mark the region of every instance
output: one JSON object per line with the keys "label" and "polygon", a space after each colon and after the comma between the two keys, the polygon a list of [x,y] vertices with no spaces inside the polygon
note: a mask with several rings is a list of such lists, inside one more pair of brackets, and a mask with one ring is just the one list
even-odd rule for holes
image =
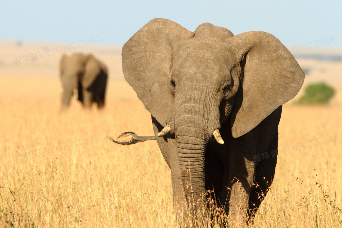
{"label": "pale blue sky above the hazy horizon", "polygon": [[[32,3],[33,2],[33,3]],[[4,1],[0,39],[77,42],[99,37],[123,44],[153,18],[168,18],[194,31],[210,22],[234,35],[272,33],[285,45],[333,37],[342,47],[342,1]]]}

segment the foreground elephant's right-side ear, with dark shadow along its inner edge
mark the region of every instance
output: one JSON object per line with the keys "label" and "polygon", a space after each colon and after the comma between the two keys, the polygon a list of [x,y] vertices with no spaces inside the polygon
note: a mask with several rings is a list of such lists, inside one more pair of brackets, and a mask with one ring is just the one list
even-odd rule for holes
{"label": "foreground elephant's right-side ear, with dark shadow along its inner edge", "polygon": [[240,88],[231,114],[236,138],[292,99],[304,82],[304,72],[287,48],[269,33],[245,32],[226,42],[241,66]]}

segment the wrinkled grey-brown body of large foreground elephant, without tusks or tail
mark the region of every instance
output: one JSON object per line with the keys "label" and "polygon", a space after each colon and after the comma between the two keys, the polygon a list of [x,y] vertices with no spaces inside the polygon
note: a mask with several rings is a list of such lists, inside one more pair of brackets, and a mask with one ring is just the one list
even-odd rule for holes
{"label": "wrinkled grey-brown body of large foreground elephant, without tusks or tail", "polygon": [[266,32],[156,18],[124,44],[122,67],[152,114],[177,210],[194,215],[212,189],[230,217],[253,218],[274,177],[281,105],[304,81],[286,47]]}

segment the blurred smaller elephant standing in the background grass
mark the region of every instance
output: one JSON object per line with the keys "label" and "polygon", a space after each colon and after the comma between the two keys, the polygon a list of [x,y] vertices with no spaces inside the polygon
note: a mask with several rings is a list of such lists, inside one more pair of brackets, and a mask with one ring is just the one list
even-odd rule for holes
{"label": "blurred smaller elephant standing in the background grass", "polygon": [[103,108],[107,84],[106,66],[92,55],[80,53],[63,55],[60,63],[63,85],[62,107],[70,104],[71,96],[82,102],[83,107],[90,108],[93,102]]}

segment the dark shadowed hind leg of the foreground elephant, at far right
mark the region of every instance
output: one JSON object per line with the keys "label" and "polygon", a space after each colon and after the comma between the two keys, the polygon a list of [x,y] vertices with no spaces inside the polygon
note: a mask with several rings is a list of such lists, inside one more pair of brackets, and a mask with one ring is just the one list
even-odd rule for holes
{"label": "dark shadowed hind leg of the foreground elephant, at far right", "polygon": [[278,153],[278,131],[276,132],[267,152],[269,155],[269,159],[262,159],[257,167],[255,167],[254,186],[249,197],[248,216],[251,223],[261,202],[266,197],[266,194],[271,187],[274,178]]}

